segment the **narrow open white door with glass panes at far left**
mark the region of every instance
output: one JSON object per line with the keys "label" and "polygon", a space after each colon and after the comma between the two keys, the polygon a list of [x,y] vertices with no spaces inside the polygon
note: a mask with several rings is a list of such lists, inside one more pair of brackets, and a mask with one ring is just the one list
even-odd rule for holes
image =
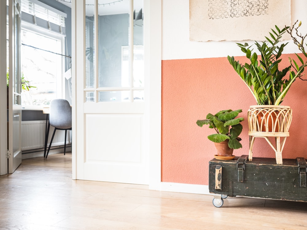
{"label": "narrow open white door with glass panes at far left", "polygon": [[21,2],[9,0],[9,164],[13,173],[21,164]]}

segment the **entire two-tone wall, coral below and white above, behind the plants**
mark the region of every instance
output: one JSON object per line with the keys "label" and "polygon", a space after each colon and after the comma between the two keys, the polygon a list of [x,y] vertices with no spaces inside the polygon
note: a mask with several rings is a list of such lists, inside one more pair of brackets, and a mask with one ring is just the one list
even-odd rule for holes
{"label": "entire two-tone wall, coral below and white above, behind the plants", "polygon": [[[291,1],[292,24],[296,20],[302,21],[300,28],[305,34],[307,16],[302,9],[307,9],[307,1]],[[227,55],[233,55],[246,62],[236,45],[238,41],[190,41],[189,16],[189,0],[162,1],[161,181],[208,185],[208,161],[216,154],[213,142],[207,138],[212,129],[198,127],[196,120],[222,109],[242,109],[239,116],[246,119],[249,106],[256,102],[227,60]],[[279,28],[284,26],[279,25],[278,20],[275,23]],[[235,32],[230,28],[227,33]],[[243,42],[254,44],[254,41],[239,41]],[[283,52],[284,65],[289,65],[288,56],[295,58],[295,52],[299,51],[289,40]],[[293,109],[284,158],[307,158],[306,89],[307,81],[298,79],[282,103]],[[249,150],[247,120],[242,125],[243,148],[234,151],[236,156],[248,154]],[[275,152],[263,138],[256,138],[253,152],[254,157],[275,157]]]}

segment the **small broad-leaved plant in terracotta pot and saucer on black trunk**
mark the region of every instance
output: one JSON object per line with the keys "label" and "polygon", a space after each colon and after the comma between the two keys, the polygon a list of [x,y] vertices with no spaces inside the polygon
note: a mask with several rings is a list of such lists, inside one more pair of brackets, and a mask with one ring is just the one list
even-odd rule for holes
{"label": "small broad-leaved plant in terracotta pot and saucer on black trunk", "polygon": [[239,137],[242,132],[241,121],[243,117],[236,118],[242,109],[221,110],[220,112],[212,115],[208,113],[205,120],[197,120],[196,124],[200,127],[203,125],[209,125],[209,128],[213,128],[216,133],[208,136],[208,139],[213,141],[216,147],[217,159],[233,159],[232,155],[234,149],[242,148],[242,144],[239,142]]}

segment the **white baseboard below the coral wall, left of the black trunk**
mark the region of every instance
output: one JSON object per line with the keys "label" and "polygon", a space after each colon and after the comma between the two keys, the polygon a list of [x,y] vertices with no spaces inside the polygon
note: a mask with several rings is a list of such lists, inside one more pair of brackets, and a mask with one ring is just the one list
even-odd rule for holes
{"label": "white baseboard below the coral wall, left of the black trunk", "polygon": [[211,194],[208,185],[181,184],[171,182],[161,182],[161,191],[195,193],[195,194]]}

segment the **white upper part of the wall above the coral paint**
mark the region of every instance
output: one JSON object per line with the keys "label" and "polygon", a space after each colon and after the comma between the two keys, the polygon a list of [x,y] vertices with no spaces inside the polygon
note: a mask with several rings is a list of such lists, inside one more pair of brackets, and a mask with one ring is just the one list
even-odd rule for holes
{"label": "white upper part of the wall above the coral paint", "polygon": [[[306,11],[306,0],[292,0],[292,22],[302,21],[301,29],[307,33]],[[264,36],[268,36],[268,33]],[[253,41],[247,41],[247,43],[252,44]],[[283,53],[298,51],[290,41]],[[194,42],[189,40],[189,0],[162,1],[162,60],[227,57],[227,55],[243,56],[243,53],[235,41]]]}

